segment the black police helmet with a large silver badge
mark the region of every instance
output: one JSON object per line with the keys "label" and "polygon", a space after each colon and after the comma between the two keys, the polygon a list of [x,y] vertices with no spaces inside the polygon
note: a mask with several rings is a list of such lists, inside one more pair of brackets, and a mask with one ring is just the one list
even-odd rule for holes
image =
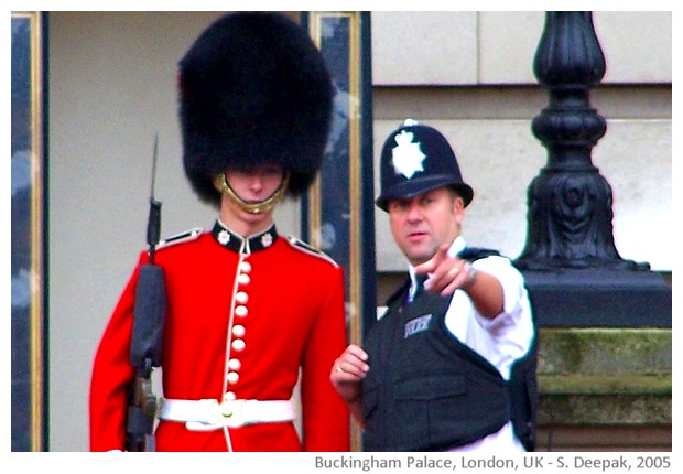
{"label": "black police helmet with a large silver badge", "polygon": [[465,207],[474,191],[463,181],[455,153],[436,129],[406,119],[391,132],[380,157],[381,192],[375,203],[387,211],[389,200],[408,198],[442,186],[451,186]]}

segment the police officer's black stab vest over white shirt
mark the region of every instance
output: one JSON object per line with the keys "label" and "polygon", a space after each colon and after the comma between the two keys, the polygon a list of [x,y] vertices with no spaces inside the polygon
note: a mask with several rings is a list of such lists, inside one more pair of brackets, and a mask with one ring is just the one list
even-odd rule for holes
{"label": "police officer's black stab vest over white shirt", "polygon": [[[492,254],[469,250],[462,257],[479,255]],[[405,304],[409,287],[410,280],[390,298],[365,341],[370,370],[362,381],[364,451],[445,451],[495,433],[510,420],[533,451],[535,337],[506,381],[446,327],[452,295],[423,292]]]}

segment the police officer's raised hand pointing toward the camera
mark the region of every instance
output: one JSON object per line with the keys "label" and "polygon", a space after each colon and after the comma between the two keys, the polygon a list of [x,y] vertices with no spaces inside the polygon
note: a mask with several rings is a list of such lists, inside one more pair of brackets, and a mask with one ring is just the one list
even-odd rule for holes
{"label": "police officer's raised hand pointing toward the camera", "polygon": [[415,266],[418,274],[430,274],[424,289],[442,295],[452,294],[458,288],[467,289],[473,283],[469,263],[448,255],[448,246],[442,246],[424,263]]}

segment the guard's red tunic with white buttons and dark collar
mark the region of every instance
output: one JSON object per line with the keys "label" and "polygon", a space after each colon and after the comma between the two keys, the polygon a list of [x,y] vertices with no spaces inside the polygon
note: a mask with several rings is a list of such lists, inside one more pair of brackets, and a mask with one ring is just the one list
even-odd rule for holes
{"label": "guard's red tunic with white buttons and dark collar", "polygon": [[[241,239],[225,230],[219,238],[219,229],[155,254],[169,294],[163,396],[288,400],[301,369],[303,441],[293,422],[198,432],[162,420],[156,450],[226,451],[230,443],[232,451],[348,451],[348,410],[329,381],[346,346],[343,269],[278,236],[274,227],[241,251],[228,248]],[[124,449],[134,289],[147,259],[142,252],[95,357],[91,451]],[[230,359],[237,360],[232,368]]]}

